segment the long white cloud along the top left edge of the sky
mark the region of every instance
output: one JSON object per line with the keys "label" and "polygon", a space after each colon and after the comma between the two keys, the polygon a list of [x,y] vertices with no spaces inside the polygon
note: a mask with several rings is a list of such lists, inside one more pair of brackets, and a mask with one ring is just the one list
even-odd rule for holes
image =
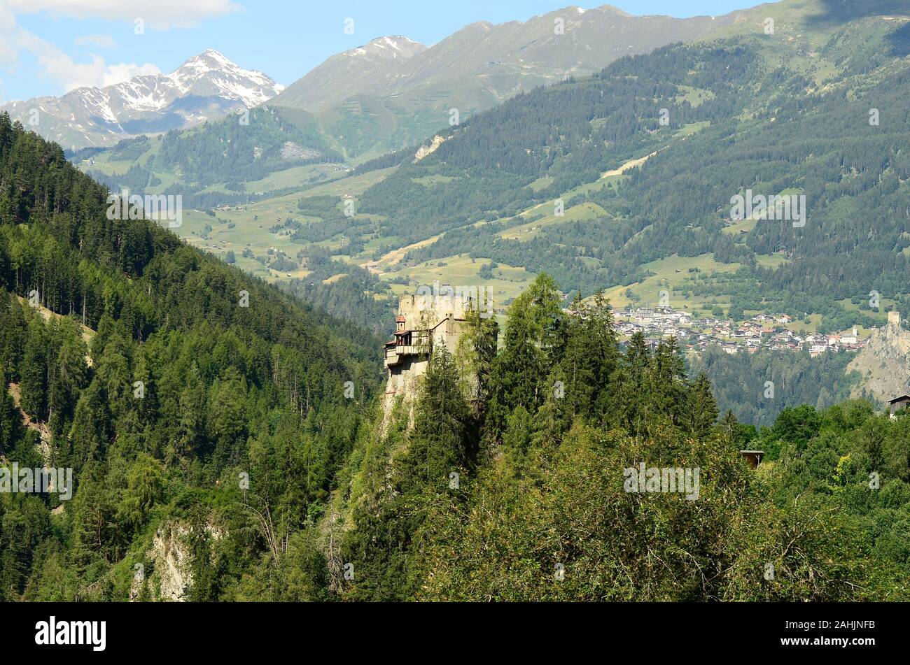
{"label": "long white cloud along the top left edge of the sky", "polygon": [[231,0],[0,0],[18,14],[48,12],[74,18],[103,18],[133,23],[145,20],[148,27],[167,30],[196,25],[213,16],[242,9]]}

